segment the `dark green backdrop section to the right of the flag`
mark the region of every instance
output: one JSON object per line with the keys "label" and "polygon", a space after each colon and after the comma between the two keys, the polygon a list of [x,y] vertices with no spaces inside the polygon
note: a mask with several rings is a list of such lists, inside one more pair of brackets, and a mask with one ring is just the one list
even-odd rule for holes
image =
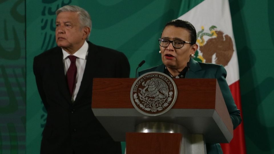
{"label": "dark green backdrop section to the right of the flag", "polygon": [[231,1],[247,153],[274,153],[274,1]]}

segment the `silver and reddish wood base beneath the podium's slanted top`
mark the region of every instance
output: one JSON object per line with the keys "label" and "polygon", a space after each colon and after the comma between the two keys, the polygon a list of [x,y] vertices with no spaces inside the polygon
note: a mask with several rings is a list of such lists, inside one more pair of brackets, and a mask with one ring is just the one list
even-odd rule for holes
{"label": "silver and reddish wood base beneath the podium's slanted top", "polygon": [[126,154],[206,154],[203,135],[177,124],[141,123],[136,131],[126,133]]}

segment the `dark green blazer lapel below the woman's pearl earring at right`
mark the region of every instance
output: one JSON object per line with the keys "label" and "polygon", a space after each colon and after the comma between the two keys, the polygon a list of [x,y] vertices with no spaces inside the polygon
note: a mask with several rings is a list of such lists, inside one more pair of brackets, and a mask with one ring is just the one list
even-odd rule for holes
{"label": "dark green blazer lapel below the woman's pearl earring at right", "polygon": [[186,78],[202,78],[205,70],[202,70],[200,64],[190,58],[190,69],[186,72]]}

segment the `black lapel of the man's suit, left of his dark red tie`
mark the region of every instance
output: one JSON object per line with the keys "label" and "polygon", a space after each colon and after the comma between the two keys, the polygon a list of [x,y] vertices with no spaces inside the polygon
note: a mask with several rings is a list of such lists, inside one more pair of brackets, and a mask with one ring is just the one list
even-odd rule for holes
{"label": "black lapel of the man's suit, left of his dark red tie", "polygon": [[51,68],[58,84],[61,93],[68,102],[71,102],[71,96],[68,90],[67,79],[64,72],[63,52],[61,48],[57,48],[55,56],[51,59]]}

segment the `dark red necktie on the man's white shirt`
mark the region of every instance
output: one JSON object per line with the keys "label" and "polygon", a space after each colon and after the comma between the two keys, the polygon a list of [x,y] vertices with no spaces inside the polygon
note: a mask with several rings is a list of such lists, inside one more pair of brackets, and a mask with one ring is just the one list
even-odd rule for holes
{"label": "dark red necktie on the man's white shirt", "polygon": [[70,60],[70,66],[67,71],[67,80],[68,80],[68,88],[70,95],[72,96],[74,87],[75,87],[75,82],[76,82],[76,74],[77,74],[77,67],[76,67],[76,56],[68,56]]}

